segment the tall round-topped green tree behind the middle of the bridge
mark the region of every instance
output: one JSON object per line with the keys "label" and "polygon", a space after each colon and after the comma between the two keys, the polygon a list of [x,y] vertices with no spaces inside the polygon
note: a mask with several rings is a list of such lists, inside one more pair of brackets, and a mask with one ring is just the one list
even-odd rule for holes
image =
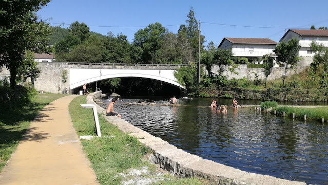
{"label": "tall round-topped green tree behind the middle of the bridge", "polygon": [[134,33],[133,45],[142,49],[142,63],[158,63],[156,56],[164,41],[167,29],[160,23],[150,24]]}

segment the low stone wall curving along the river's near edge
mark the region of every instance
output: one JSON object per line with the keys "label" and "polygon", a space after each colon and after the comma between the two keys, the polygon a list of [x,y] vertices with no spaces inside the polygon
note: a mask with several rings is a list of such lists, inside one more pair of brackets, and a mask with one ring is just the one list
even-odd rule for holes
{"label": "low stone wall curving along the river's near edge", "polygon": [[181,177],[202,177],[216,184],[223,185],[245,185],[245,184],[287,184],[298,185],[305,182],[279,179],[268,175],[244,172],[214,161],[203,159],[199,156],[189,154],[176,146],[169,144],[161,138],[150,135],[130,123],[115,117],[105,116],[105,109],[94,103],[94,97],[99,97],[100,92],[87,96],[87,103],[97,107],[98,113],[102,114],[108,122],[118,126],[124,132],[135,136],[139,141],[150,147],[156,157],[157,163],[164,170]]}

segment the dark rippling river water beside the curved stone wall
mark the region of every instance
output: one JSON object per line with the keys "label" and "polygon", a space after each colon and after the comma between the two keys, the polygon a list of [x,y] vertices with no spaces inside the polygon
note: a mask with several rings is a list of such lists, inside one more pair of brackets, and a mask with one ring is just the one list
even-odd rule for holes
{"label": "dark rippling river water beside the curved stone wall", "polygon": [[[275,117],[248,108],[216,113],[208,107],[210,98],[178,99],[183,105],[179,107],[124,105],[164,100],[122,99],[114,105],[122,119],[186,152],[247,172],[328,184],[327,123]],[[103,101],[106,108],[108,100]],[[232,101],[217,102],[231,105]],[[260,103],[239,100],[239,104]]]}

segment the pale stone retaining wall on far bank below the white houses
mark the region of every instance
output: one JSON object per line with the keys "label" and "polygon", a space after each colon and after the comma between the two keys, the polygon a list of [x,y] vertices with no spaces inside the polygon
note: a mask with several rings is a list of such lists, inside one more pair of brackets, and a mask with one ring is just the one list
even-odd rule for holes
{"label": "pale stone retaining wall on far bank below the white houses", "polygon": [[[296,72],[299,73],[300,71],[306,69],[308,66],[296,67]],[[238,72],[237,74],[231,73],[228,70],[229,66],[223,66],[223,74],[228,77],[228,79],[242,79],[247,78],[248,80],[255,80],[254,72],[259,75],[259,79],[264,80],[264,68],[247,68],[247,64],[239,64],[238,69],[235,71]],[[213,66],[211,71],[215,74],[218,74],[219,66]],[[271,75],[268,76],[267,80],[275,80],[279,79],[284,76],[285,68],[284,67],[275,67],[272,69]],[[293,69],[288,69],[287,76],[291,76],[295,73]]]}

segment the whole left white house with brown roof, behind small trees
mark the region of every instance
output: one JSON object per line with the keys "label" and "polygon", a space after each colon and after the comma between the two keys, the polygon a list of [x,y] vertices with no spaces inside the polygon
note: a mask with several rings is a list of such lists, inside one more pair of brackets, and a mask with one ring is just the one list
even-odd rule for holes
{"label": "whole left white house with brown roof, behind small trees", "polygon": [[219,48],[232,48],[235,57],[257,58],[264,54],[273,54],[278,43],[271,39],[258,38],[224,38]]}

